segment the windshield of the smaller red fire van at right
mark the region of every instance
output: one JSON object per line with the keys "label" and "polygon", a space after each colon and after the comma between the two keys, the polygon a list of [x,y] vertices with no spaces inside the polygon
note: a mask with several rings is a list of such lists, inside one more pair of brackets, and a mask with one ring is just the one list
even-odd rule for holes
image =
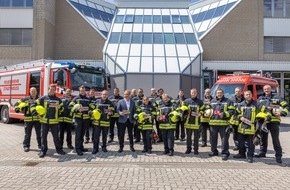
{"label": "windshield of the smaller red fire van at right", "polygon": [[221,88],[224,90],[224,96],[227,98],[231,98],[235,96],[235,88],[237,87],[243,90],[244,84],[215,84],[211,88],[211,95],[215,97],[217,89]]}

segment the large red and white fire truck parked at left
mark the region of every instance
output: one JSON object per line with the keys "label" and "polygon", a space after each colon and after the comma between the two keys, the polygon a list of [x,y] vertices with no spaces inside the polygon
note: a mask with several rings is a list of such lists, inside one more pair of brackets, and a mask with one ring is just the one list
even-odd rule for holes
{"label": "large red and white fire truck parked at left", "polygon": [[0,68],[0,111],[1,121],[10,123],[13,119],[23,119],[23,114],[15,113],[13,105],[21,98],[29,96],[29,89],[35,87],[38,95],[48,93],[50,84],[56,84],[58,97],[67,88],[76,96],[79,86],[86,90],[101,91],[110,88],[110,77],[102,67],[75,62],[38,60]]}

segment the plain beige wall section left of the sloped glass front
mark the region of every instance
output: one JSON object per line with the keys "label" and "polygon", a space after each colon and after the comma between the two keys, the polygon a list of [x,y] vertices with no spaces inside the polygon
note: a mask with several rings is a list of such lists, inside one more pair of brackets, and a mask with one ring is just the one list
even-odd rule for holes
{"label": "plain beige wall section left of the sloped glass front", "polygon": [[56,1],[54,59],[103,59],[105,39],[66,0]]}

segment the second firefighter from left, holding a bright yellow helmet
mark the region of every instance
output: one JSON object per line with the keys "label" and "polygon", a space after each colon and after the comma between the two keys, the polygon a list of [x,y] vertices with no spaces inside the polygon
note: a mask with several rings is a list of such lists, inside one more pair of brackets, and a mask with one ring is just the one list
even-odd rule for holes
{"label": "second firefighter from left, holding a bright yellow helmet", "polygon": [[31,107],[31,112],[40,115],[41,123],[41,151],[39,157],[43,158],[48,150],[47,135],[50,130],[53,137],[53,142],[58,154],[65,154],[62,149],[59,139],[58,117],[63,111],[63,104],[60,98],[56,97],[56,86],[50,85],[48,95],[38,98],[35,106]]}

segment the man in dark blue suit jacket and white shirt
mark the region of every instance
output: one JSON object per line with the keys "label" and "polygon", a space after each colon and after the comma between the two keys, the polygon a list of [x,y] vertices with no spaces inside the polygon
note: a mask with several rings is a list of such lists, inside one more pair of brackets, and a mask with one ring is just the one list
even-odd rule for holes
{"label": "man in dark blue suit jacket and white shirt", "polygon": [[119,153],[123,152],[124,148],[124,137],[126,128],[128,129],[129,141],[130,141],[130,150],[135,152],[133,144],[133,123],[134,123],[134,114],[136,113],[136,105],[134,101],[130,98],[130,91],[125,90],[124,99],[120,100],[117,105],[117,112],[120,114],[118,119],[118,137],[119,137]]}

